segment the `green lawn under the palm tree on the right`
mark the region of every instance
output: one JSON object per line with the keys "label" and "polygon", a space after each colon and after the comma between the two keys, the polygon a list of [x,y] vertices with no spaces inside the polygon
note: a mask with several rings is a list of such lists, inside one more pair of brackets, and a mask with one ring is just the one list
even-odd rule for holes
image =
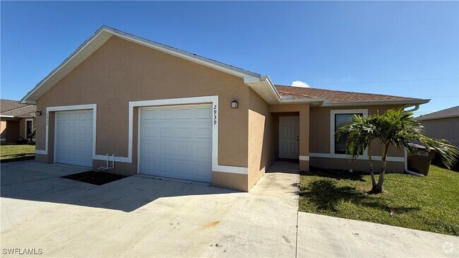
{"label": "green lawn under the palm tree on the right", "polygon": [[363,172],[304,172],[299,211],[459,235],[459,172],[431,165],[427,177],[386,174],[385,192],[370,189]]}

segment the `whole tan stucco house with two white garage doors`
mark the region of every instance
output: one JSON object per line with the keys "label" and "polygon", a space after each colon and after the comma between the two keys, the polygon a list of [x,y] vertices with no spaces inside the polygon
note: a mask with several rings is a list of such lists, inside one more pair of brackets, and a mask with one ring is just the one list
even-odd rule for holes
{"label": "whole tan stucco house with two white garage doors", "polygon": [[[249,191],[278,159],[366,170],[334,132],[352,114],[429,102],[275,86],[268,76],[102,27],[21,100],[36,104],[36,160]],[[376,160],[381,146],[374,143]],[[388,170],[403,172],[391,148]],[[376,162],[377,163],[377,162]],[[112,163],[109,163],[111,166]],[[375,164],[378,165],[378,164]]]}

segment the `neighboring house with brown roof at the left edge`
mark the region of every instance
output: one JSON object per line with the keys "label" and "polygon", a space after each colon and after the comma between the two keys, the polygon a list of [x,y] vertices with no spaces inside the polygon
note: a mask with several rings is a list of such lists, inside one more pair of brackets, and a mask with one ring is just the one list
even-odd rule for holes
{"label": "neighboring house with brown roof at the left edge", "polygon": [[0,100],[0,143],[16,143],[26,139],[33,129],[35,105],[20,104],[18,100]]}

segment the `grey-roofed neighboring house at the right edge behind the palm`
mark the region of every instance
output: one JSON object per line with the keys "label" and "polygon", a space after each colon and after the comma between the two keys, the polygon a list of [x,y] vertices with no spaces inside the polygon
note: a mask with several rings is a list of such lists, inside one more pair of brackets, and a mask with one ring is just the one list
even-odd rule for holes
{"label": "grey-roofed neighboring house at the right edge behind the palm", "polygon": [[426,135],[434,139],[446,139],[459,148],[459,106],[417,117],[424,125]]}

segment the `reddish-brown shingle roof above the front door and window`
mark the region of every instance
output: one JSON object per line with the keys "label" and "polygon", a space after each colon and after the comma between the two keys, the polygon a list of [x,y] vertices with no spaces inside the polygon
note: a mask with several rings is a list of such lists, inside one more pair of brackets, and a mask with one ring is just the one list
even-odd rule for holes
{"label": "reddish-brown shingle roof above the front door and window", "polygon": [[355,105],[362,102],[362,105],[375,105],[381,104],[424,104],[429,100],[422,100],[419,98],[407,98],[393,95],[370,94],[370,93],[355,93],[350,91],[341,90],[323,90],[319,88],[303,88],[294,86],[280,86],[276,85],[282,98],[292,96],[293,98],[326,98],[324,105]]}

